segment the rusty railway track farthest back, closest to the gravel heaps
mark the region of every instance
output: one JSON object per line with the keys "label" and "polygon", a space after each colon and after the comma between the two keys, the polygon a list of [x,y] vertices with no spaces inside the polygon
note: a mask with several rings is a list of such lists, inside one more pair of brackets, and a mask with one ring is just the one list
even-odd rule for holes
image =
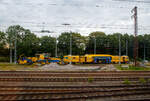
{"label": "rusty railway track farthest back, closest to the gravel heaps", "polygon": [[150,71],[0,71],[0,77],[141,77],[150,76]]}

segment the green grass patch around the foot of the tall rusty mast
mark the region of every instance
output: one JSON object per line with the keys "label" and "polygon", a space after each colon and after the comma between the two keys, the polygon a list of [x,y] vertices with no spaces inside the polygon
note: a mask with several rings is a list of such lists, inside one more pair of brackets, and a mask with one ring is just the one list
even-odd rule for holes
{"label": "green grass patch around the foot of the tall rusty mast", "polygon": [[148,71],[150,70],[150,68],[147,68],[147,67],[135,67],[135,66],[132,66],[132,65],[129,65],[129,68],[124,68],[124,67],[121,67],[120,65],[115,65],[117,69],[119,70],[134,70],[134,71]]}

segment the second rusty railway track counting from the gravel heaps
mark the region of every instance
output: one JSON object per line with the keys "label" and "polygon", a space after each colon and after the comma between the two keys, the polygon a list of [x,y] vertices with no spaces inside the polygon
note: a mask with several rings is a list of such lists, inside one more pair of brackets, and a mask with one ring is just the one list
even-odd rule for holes
{"label": "second rusty railway track counting from the gravel heaps", "polygon": [[[141,77],[145,80],[149,80],[150,77]],[[39,77],[10,77],[10,78],[0,78],[0,81],[6,82],[93,82],[93,81],[138,81],[140,77],[49,77],[49,78],[39,78]]]}

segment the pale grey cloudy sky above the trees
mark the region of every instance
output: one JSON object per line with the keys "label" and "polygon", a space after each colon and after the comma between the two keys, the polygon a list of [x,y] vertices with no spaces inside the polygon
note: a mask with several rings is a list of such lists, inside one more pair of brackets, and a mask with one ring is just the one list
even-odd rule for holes
{"label": "pale grey cloudy sky above the trees", "polygon": [[64,31],[132,34],[134,6],[139,34],[150,33],[149,0],[0,0],[0,30],[19,24],[38,36],[50,35],[36,32],[42,29],[54,31],[52,36]]}

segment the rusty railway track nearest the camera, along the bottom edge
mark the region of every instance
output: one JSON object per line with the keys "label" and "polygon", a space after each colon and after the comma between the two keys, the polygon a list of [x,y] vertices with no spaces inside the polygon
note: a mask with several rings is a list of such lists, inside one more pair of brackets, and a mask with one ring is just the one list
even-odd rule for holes
{"label": "rusty railway track nearest the camera, along the bottom edge", "polygon": [[[39,89],[39,88],[38,88]],[[54,88],[53,88],[54,89]],[[83,100],[83,99],[108,99],[111,101],[110,98],[113,98],[115,100],[120,99],[121,97],[127,97],[128,96],[150,96],[150,87],[134,87],[134,88],[99,88],[99,89],[93,89],[90,88],[81,89],[74,87],[74,90],[68,90],[68,89],[59,89],[59,90],[42,90],[42,92],[35,91],[30,88],[30,90],[26,91],[18,91],[16,89],[16,92],[9,92],[6,91],[3,93],[0,93],[0,100]]]}

